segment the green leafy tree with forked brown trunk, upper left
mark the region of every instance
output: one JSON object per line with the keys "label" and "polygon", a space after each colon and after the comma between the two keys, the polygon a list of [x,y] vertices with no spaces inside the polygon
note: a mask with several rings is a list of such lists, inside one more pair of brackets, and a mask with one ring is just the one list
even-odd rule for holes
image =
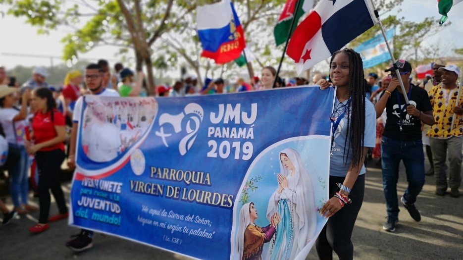
{"label": "green leafy tree with forked brown trunk, upper left", "polygon": [[154,90],[152,49],[165,32],[181,27],[181,18],[201,1],[176,0],[0,0],[10,6],[9,14],[26,17],[49,33],[58,26],[75,31],[65,37],[63,58],[77,61],[78,54],[100,45],[120,47],[120,52],[135,52],[137,70],[147,65],[148,85]]}

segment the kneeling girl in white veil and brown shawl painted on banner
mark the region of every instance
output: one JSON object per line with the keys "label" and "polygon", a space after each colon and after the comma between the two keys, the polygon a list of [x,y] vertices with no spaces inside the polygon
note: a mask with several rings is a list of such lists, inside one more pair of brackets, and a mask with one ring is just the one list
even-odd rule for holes
{"label": "kneeling girl in white veil and brown shawl painted on banner", "polygon": [[274,213],[270,225],[259,227],[255,224],[257,209],[254,202],[243,205],[240,210],[240,223],[237,234],[237,250],[242,260],[260,260],[263,244],[270,241],[280,222],[280,215]]}

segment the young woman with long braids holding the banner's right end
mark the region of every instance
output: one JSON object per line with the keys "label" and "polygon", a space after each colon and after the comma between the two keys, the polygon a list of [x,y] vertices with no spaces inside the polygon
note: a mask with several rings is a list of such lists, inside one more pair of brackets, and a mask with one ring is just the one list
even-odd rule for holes
{"label": "young woman with long braids holding the banner's right end", "polygon": [[[329,217],[316,240],[319,259],[353,259],[351,235],[363,202],[365,167],[368,148],[375,146],[376,112],[365,98],[363,64],[360,54],[344,49],[330,61],[330,82],[336,86],[334,111],[331,115],[329,197],[320,214]],[[329,82],[320,81],[321,88]]]}

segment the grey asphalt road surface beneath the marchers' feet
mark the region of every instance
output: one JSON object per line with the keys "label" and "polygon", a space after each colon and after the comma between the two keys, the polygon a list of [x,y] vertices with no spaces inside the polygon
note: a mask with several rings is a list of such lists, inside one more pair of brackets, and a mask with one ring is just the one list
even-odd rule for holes
{"label": "grey asphalt road surface beneath the marchers' feet", "polygon": [[[382,190],[381,169],[369,161],[365,181],[365,198],[357,219],[352,240],[355,259],[463,259],[463,196],[459,199],[434,195],[434,177],[427,176],[423,191],[415,204],[421,212],[421,222],[412,220],[407,210],[401,208],[399,226],[395,233],[382,230],[386,209]],[[398,198],[407,183],[401,165]],[[66,195],[70,182],[63,182]],[[31,199],[38,203],[37,199]],[[6,201],[10,203],[9,200]],[[52,205],[51,215],[57,213]],[[31,235],[27,228],[33,226],[38,212],[15,219],[6,226],[0,225],[0,259],[2,260],[183,260],[189,259],[163,250],[144,246],[113,236],[96,234],[94,248],[74,254],[64,246],[65,241],[78,229],[69,227],[66,220],[51,224],[51,228],[38,235]],[[205,250],[207,250],[205,248]],[[307,260],[316,260],[315,250]]]}

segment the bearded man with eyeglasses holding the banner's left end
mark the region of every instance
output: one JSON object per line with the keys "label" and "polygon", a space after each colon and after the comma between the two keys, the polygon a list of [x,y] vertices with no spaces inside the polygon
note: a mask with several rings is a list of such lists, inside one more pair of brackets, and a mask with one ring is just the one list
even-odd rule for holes
{"label": "bearded man with eyeglasses holding the banner's left end", "polygon": [[[103,68],[98,64],[90,64],[85,70],[85,84],[87,89],[91,92],[91,95],[99,95],[105,97],[119,97],[119,93],[112,89],[103,88]],[[74,107],[73,123],[71,130],[71,140],[69,156],[67,164],[69,168],[73,169],[76,167],[75,152],[77,143],[77,130],[79,129],[79,120],[82,114],[82,102],[83,97],[80,97]],[[76,235],[76,238],[68,241],[66,246],[76,252],[81,252],[86,249],[92,248],[92,237],[93,231],[82,229],[80,234]]]}

